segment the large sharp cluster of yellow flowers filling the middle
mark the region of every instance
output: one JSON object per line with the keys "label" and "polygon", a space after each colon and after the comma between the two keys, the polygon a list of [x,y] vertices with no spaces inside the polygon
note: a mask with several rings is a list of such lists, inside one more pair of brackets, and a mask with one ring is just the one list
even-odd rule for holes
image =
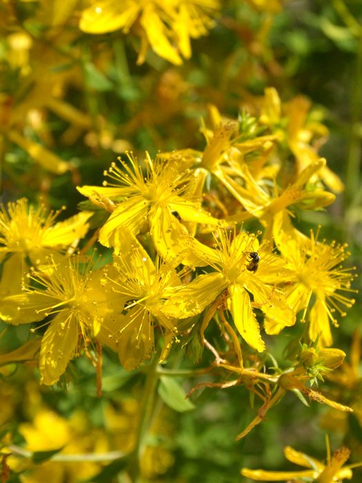
{"label": "large sharp cluster of yellow flowers filling the middle", "polygon": [[[3,207],[0,313],[9,324],[43,321],[32,332],[47,327],[39,353],[43,384],[59,381],[68,362],[86,353],[100,391],[101,346],[117,351],[132,371],[154,352],[164,362],[181,342],[197,358],[208,348],[218,377],[237,373],[232,384],[263,401],[239,437],[288,390],[350,411],[305,386],[343,362],[343,351],[328,348],[329,322],[338,326],[336,313],[354,303],[343,295],[354,291],[354,275],[341,266],[345,246],[319,242],[313,231],[307,237],[292,222],[296,210],[321,208],[334,195],[325,191],[325,159],[312,146],[313,155],[286,176],[280,153],[294,144],[285,143],[291,138],[288,128],[281,132],[277,99],[267,90],[260,115],[243,112],[238,121],[210,106],[203,152],[186,148],[156,159],[146,153],[142,161],[127,153],[104,172],[103,186],[78,188],[90,200],[87,211],[66,221],[53,225],[57,213],[47,217],[24,199]],[[92,223],[99,210],[104,216]],[[97,228],[90,243],[98,238],[112,250],[112,262],[84,255],[90,243],[73,253],[89,224]],[[21,273],[10,280],[14,265]],[[221,330],[217,347],[207,338],[212,320]],[[263,372],[272,339],[265,342],[261,327],[275,337],[292,326],[301,327],[295,334],[303,341],[292,364]]]}

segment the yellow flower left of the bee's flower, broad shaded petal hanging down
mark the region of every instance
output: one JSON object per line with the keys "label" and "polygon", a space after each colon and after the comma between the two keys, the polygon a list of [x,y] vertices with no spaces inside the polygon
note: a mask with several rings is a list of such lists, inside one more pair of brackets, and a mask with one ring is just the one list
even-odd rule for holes
{"label": "yellow flower left of the bee's flower, broad shaded petal hanging down", "polygon": [[[170,302],[179,303],[177,289],[182,285],[181,276],[168,262],[157,257],[155,264],[141,247],[137,239],[127,230],[121,232],[124,238],[122,254],[114,257],[114,265],[105,271],[112,290],[114,302],[125,315],[110,315],[100,324],[97,337],[119,353],[121,364],[132,371],[149,357],[154,350],[154,326],[157,323],[165,337],[161,359],[170,351],[177,335],[177,318],[163,306]],[[199,313],[203,306],[188,299],[188,311],[182,317]],[[107,342],[108,337],[108,342]]]}

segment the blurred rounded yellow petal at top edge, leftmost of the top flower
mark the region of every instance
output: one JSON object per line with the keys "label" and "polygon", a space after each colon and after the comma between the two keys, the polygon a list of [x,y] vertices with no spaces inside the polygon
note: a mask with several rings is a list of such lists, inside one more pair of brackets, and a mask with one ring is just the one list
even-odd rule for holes
{"label": "blurred rounded yellow petal at top edge, leftmost of the top flower", "polygon": [[128,32],[137,19],[140,5],[134,0],[100,0],[83,10],[79,28],[90,34],[104,34],[123,28]]}

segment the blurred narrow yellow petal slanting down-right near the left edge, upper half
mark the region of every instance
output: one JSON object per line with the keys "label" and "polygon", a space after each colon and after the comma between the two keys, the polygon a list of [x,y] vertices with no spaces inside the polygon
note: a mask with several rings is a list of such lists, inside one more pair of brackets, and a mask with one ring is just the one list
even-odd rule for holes
{"label": "blurred narrow yellow petal slanting down-right near the left edge, upper half", "polygon": [[69,164],[66,163],[66,161],[63,161],[63,159],[54,155],[53,152],[44,148],[41,144],[37,144],[34,141],[19,135],[19,132],[14,130],[8,131],[7,135],[13,143],[28,152],[28,154],[46,170],[54,172],[56,175],[62,175],[63,172],[66,172],[69,169]]}

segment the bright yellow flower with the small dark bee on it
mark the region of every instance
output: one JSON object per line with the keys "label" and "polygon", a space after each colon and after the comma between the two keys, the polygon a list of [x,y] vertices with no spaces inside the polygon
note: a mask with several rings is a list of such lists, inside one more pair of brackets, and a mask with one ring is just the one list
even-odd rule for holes
{"label": "bright yellow flower with the small dark bee on it", "polygon": [[[262,352],[265,344],[253,306],[265,313],[272,321],[270,325],[277,324],[279,331],[295,322],[294,311],[285,303],[281,290],[274,287],[275,283],[288,278],[285,262],[272,254],[270,244],[259,247],[257,237],[243,231],[236,234],[235,230],[219,230],[215,239],[215,249],[201,244],[193,248],[201,259],[208,260],[216,272],[197,277],[180,291],[193,292],[195,298],[205,299],[205,294],[216,298],[228,289],[228,309],[234,324],[243,339]],[[257,270],[254,270],[250,253],[257,253],[260,257]],[[251,302],[249,293],[252,293],[254,302]]]}

